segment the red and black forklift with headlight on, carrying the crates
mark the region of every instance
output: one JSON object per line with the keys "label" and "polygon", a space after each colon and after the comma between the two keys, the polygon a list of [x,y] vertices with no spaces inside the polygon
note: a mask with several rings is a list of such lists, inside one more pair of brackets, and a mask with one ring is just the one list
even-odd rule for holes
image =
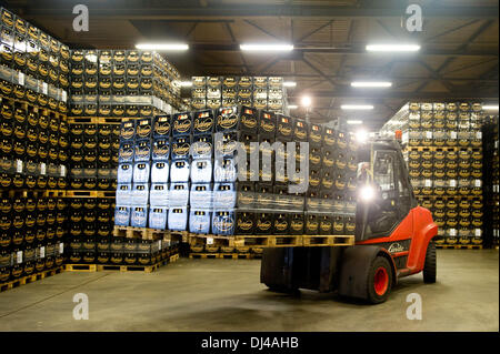
{"label": "red and black forklift with headlight on, carrying the crates", "polygon": [[436,282],[438,225],[417,203],[399,142],[368,142],[358,162],[354,245],[264,249],[260,279],[271,291],[338,291],[377,304],[400,277]]}

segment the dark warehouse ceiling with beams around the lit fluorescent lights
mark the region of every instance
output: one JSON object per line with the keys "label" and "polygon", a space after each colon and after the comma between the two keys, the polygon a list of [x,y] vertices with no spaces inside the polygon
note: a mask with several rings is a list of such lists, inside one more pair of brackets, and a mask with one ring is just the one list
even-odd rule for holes
{"label": "dark warehouse ceiling with beams around the lit fluorescent lights", "polygon": [[[311,120],[361,119],[379,129],[409,100],[498,102],[499,8],[492,0],[11,0],[0,1],[61,41],[80,48],[130,48],[181,41],[167,53],[191,75],[281,75],[296,81],[289,102],[312,98]],[[86,3],[88,32],[72,30],[72,7]],[[423,30],[408,32],[404,11],[418,3]],[[290,42],[291,53],[242,53],[243,42]],[[373,41],[414,42],[418,53],[368,53]],[[392,88],[352,89],[353,80],[392,81]],[[373,104],[369,113],[341,111]],[[297,114],[304,114],[299,109]]]}

